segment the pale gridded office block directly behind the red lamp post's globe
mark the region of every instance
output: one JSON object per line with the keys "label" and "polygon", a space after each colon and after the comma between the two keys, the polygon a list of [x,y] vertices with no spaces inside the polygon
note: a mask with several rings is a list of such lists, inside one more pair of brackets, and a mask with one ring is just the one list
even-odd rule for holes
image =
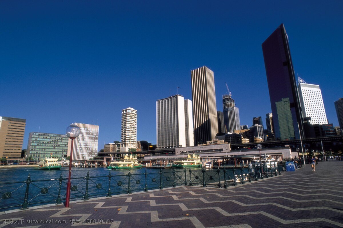
{"label": "pale gridded office block directly behind the red lamp post's globe", "polygon": [[[80,135],[74,139],[72,160],[92,159],[98,155],[99,126],[86,123],[73,123],[81,130]],[[71,145],[69,139],[68,144]],[[70,151],[68,149],[68,156]]]}

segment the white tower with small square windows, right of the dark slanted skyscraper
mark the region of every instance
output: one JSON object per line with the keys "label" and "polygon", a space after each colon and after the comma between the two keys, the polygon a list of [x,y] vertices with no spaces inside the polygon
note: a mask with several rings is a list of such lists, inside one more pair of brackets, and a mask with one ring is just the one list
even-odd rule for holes
{"label": "white tower with small square windows, right of the dark slanted skyscraper", "polygon": [[319,85],[307,84],[298,79],[298,93],[303,117],[311,117],[311,124],[327,124],[323,97]]}

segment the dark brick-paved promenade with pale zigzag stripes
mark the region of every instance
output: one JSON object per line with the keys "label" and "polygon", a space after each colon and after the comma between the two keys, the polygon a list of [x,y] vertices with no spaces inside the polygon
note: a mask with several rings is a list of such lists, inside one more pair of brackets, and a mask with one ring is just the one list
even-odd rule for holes
{"label": "dark brick-paved promenade with pale zigzag stripes", "polygon": [[[70,208],[50,205],[2,212],[0,228],[343,227],[342,177],[343,161],[320,162],[316,172],[306,165],[228,189],[179,186],[74,201]],[[38,219],[66,224],[35,224]]]}

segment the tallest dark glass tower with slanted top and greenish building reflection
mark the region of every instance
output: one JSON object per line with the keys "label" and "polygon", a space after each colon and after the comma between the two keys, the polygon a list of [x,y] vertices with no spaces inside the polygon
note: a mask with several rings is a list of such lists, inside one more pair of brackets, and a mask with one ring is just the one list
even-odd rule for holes
{"label": "tallest dark glass tower with slanted top and greenish building reflection", "polygon": [[262,51],[275,137],[299,139],[300,134],[301,137],[304,136],[303,118],[288,36],[283,24],[263,42]]}

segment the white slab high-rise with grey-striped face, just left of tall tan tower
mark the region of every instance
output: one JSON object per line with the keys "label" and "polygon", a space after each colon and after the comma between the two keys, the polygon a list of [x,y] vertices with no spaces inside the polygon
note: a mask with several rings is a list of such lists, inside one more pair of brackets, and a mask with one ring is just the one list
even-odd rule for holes
{"label": "white slab high-rise with grey-striped face, just left of tall tan tower", "polygon": [[[181,95],[156,101],[156,142],[158,149],[190,145],[189,140],[193,141],[191,105],[191,101],[184,100]],[[193,146],[193,144],[191,145]]]}

